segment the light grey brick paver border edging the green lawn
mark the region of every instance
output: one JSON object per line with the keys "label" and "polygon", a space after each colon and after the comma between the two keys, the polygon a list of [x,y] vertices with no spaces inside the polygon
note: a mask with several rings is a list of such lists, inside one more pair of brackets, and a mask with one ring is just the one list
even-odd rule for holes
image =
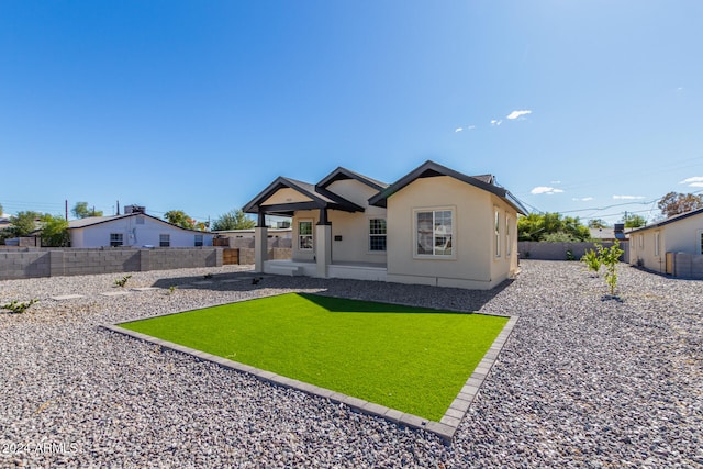
{"label": "light grey brick paver border edging the green lawn", "polygon": [[[161,315],[171,315],[171,314],[178,314],[178,313],[167,313]],[[146,320],[152,317],[158,317],[158,316],[141,317],[141,319],[131,320],[131,321],[141,321],[141,320]],[[238,361],[233,361],[223,357],[219,357],[216,355],[208,354],[205,351],[196,350],[194,348],[186,347],[168,340],[163,340],[160,338],[156,338],[146,334],[130,331],[130,330],[120,327],[118,325],[101,325],[100,327],[118,334],[137,338],[140,340],[144,340],[149,344],[158,345],[160,347],[164,347],[174,351],[187,354],[200,360],[211,361],[223,368],[250,375],[268,383],[297,389],[299,391],[302,391],[312,395],[317,395],[320,398],[328,399],[336,403],[343,403],[364,414],[386,418],[390,422],[393,422],[402,426],[424,429],[426,432],[429,432],[439,436],[442,439],[445,440],[445,443],[450,444],[451,440],[454,439],[454,435],[456,434],[459,427],[459,424],[461,423],[466,413],[468,412],[469,406],[476,399],[476,395],[478,394],[479,389],[488,378],[491,367],[493,366],[493,364],[495,364],[500,351],[502,350],[503,346],[507,342],[507,338],[513,332],[513,328],[515,327],[515,324],[517,323],[518,319],[520,316],[510,316],[507,323],[505,324],[501,333],[498,335],[498,337],[495,337],[495,340],[493,340],[493,344],[483,356],[483,359],[476,367],[476,369],[473,370],[469,379],[464,384],[464,388],[461,388],[461,391],[459,391],[454,402],[451,403],[451,405],[449,405],[449,409],[447,409],[447,412],[444,414],[444,416],[440,418],[439,422],[428,421],[426,418],[423,418],[413,414],[406,414],[395,409],[389,409],[383,405],[376,404],[373,402],[368,402],[362,399],[342,394],[339,392],[321,388],[319,386],[310,384],[303,381],[299,381],[297,379],[276,375],[271,371],[254,368],[252,366],[244,365]]]}

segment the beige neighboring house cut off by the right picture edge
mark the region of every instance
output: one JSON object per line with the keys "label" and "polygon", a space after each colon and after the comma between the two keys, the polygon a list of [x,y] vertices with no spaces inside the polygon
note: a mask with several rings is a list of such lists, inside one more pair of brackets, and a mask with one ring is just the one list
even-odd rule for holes
{"label": "beige neighboring house cut off by the right picture edge", "polygon": [[631,265],[671,273],[671,266],[667,266],[667,253],[703,255],[703,209],[629,232]]}

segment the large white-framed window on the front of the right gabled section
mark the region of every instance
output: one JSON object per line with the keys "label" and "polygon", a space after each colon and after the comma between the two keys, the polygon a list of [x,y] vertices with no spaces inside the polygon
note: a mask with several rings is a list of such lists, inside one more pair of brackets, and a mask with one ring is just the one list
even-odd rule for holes
{"label": "large white-framed window on the front of the right gabled section", "polygon": [[453,256],[454,213],[451,210],[415,212],[417,256]]}

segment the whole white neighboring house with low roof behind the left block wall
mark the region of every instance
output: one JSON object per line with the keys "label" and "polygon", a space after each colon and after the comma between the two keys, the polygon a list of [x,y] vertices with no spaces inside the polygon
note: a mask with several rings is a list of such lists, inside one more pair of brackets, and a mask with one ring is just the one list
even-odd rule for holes
{"label": "whole white neighboring house with low roof behind the left block wall", "polygon": [[68,230],[71,247],[197,247],[212,246],[214,237],[138,212],[71,220]]}

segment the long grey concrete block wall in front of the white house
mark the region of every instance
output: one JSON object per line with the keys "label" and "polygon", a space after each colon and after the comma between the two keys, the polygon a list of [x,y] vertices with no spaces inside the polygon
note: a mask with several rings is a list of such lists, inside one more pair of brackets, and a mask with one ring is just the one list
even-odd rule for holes
{"label": "long grey concrete block wall in front of the white house", "polygon": [[222,248],[0,249],[0,280],[222,267]]}

